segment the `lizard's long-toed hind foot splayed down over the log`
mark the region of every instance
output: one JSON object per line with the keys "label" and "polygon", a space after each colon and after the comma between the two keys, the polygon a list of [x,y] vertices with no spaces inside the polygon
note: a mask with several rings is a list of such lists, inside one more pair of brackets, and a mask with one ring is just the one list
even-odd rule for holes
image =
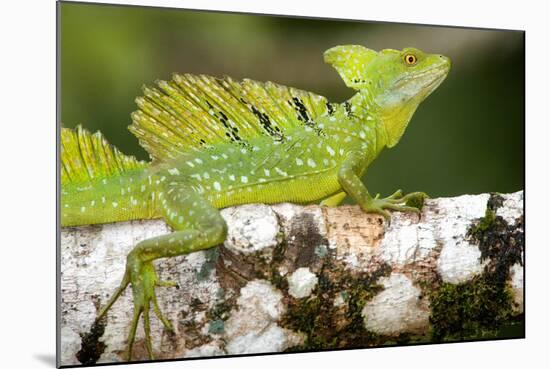
{"label": "lizard's long-toed hind foot splayed down over the log", "polygon": [[120,283],[120,287],[115,291],[113,296],[109,299],[107,304],[100,310],[97,320],[100,320],[114,302],[120,297],[122,292],[132,285],[132,294],[134,298],[134,315],[132,323],[130,325],[130,331],[128,333],[128,348],[126,351],[126,360],[132,359],[132,348],[134,345],[134,339],[136,336],[136,329],[140,316],[143,314],[143,328],[145,331],[145,347],[151,360],[153,356],[153,346],[151,343],[151,323],[149,319],[149,311],[151,305],[155,315],[164,324],[166,329],[173,331],[172,324],[166,319],[162,311],[160,310],[155,294],[155,287],[177,287],[175,282],[160,281],[157,277],[155,267],[151,261],[142,262],[130,253],[126,263],[126,272]]}

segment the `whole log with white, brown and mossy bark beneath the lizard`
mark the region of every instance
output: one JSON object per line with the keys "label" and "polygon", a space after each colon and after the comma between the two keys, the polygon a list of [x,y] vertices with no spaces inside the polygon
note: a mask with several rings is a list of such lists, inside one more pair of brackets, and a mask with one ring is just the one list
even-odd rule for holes
{"label": "whole log with white, brown and mossy bark beneath the lizard", "polygon": [[[522,191],[427,200],[420,217],[394,213],[390,225],[357,206],[251,204],[222,215],[223,246],[156,262],[180,286],[157,290],[175,328],[152,318],[157,358],[481,338],[522,319]],[[160,220],[62,230],[62,365],[123,360],[131,293],[104,326],[93,326],[98,308],[132,247],[168,232]],[[147,358],[143,337],[140,326],[135,359]]]}

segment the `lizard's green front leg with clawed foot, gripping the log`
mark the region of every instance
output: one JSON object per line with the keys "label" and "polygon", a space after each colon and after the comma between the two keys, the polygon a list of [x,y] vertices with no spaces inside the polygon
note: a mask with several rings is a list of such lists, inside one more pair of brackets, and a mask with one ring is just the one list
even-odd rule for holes
{"label": "lizard's green front leg with clawed foot, gripping the log", "polygon": [[389,210],[420,212],[416,207],[403,205],[407,201],[418,198],[426,198],[423,192],[412,192],[403,196],[401,190],[397,190],[386,198],[380,198],[377,194],[372,197],[359,177],[361,168],[364,167],[366,157],[359,152],[350,153],[342,162],[338,170],[338,181],[344,191],[350,195],[361,208],[368,213],[377,213],[389,219]]}

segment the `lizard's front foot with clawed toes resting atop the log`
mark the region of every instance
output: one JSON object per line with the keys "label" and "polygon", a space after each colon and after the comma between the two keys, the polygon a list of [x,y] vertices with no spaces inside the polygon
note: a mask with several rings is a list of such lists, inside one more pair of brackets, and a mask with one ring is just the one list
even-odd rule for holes
{"label": "lizard's front foot with clawed toes resting atop the log", "polygon": [[429,198],[424,192],[411,192],[403,196],[401,190],[395,191],[392,195],[381,199],[380,194],[377,194],[373,199],[368,201],[363,210],[369,213],[382,215],[386,219],[390,219],[391,214],[388,210],[395,211],[410,211],[420,213],[420,208],[424,203],[424,199]]}

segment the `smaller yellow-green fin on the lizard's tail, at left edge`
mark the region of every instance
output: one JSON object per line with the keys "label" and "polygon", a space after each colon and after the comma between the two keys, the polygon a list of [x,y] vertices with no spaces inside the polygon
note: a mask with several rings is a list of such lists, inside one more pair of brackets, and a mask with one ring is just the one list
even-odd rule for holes
{"label": "smaller yellow-green fin on the lizard's tail, at left edge", "polygon": [[84,183],[144,168],[147,164],[124,155],[98,131],[82,126],[61,128],[61,184]]}

